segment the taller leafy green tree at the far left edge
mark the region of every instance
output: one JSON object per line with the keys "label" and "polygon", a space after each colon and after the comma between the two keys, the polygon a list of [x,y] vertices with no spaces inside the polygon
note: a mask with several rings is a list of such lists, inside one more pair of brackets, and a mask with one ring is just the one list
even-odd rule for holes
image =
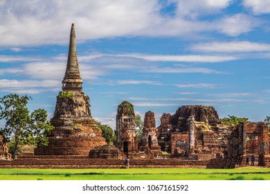
{"label": "taller leafy green tree at the far left edge", "polygon": [[12,148],[12,159],[15,159],[28,132],[30,121],[29,111],[26,107],[30,97],[10,94],[0,98],[0,119],[5,119],[5,127],[1,128],[6,139],[10,140],[13,136],[14,145]]}

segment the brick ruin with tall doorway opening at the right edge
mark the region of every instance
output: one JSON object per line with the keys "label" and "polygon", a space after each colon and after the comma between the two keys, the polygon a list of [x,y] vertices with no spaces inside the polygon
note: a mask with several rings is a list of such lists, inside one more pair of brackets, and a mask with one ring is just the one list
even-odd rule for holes
{"label": "brick ruin with tall doorway opening at the right edge", "polygon": [[239,123],[228,136],[226,150],[226,157],[224,159],[211,159],[208,168],[269,167],[269,129],[267,123]]}

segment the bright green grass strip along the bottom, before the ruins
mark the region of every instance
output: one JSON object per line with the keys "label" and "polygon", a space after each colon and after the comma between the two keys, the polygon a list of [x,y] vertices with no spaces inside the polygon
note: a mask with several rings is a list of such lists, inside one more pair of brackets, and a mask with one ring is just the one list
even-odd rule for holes
{"label": "bright green grass strip along the bottom, before the ruins", "polygon": [[270,180],[270,168],[0,169],[1,180]]}

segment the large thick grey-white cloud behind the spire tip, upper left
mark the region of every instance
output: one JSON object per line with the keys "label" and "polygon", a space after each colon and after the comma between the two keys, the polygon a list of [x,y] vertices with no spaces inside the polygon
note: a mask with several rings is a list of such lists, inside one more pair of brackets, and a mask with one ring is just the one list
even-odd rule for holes
{"label": "large thick grey-white cloud behind the spire tip, upper left", "polygon": [[66,43],[71,23],[77,26],[78,41],[132,34],[152,23],[156,8],[157,2],[149,0],[3,1],[1,44]]}

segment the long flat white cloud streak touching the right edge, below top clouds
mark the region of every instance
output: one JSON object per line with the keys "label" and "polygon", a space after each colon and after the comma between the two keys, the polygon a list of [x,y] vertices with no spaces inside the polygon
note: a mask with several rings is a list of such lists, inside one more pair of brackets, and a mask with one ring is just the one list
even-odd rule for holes
{"label": "long flat white cloud streak touching the right edge, below top clouds", "polygon": [[194,51],[213,53],[235,53],[235,52],[269,52],[270,44],[259,42],[210,42],[195,44],[190,47]]}

